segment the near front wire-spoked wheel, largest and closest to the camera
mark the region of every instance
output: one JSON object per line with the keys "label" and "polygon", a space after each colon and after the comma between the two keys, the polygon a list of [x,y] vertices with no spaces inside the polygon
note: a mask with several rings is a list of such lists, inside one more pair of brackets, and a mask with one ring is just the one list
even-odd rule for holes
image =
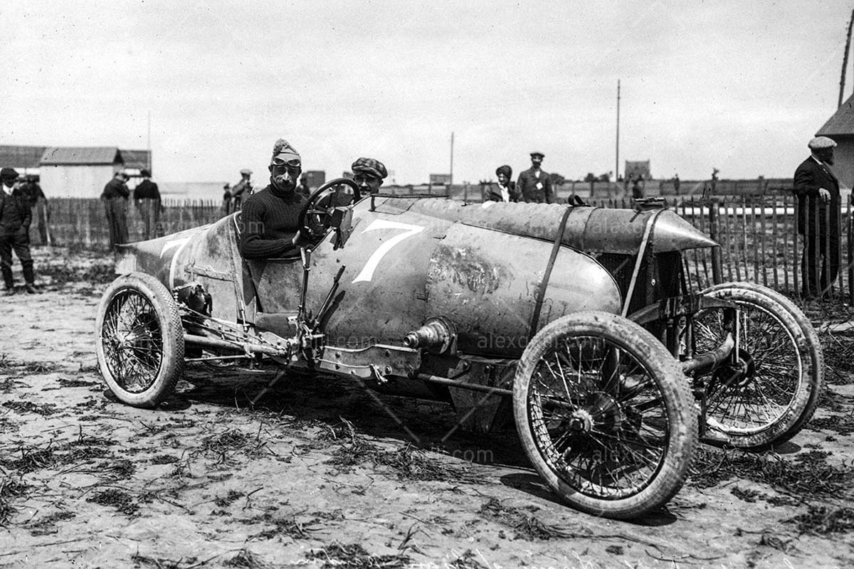
{"label": "near front wire-spoked wheel, largest and closest to the camera", "polygon": [[697,409],[676,359],[635,322],[605,312],[564,316],[535,335],[518,364],[513,414],[552,490],[607,518],[664,506],[697,445]]}

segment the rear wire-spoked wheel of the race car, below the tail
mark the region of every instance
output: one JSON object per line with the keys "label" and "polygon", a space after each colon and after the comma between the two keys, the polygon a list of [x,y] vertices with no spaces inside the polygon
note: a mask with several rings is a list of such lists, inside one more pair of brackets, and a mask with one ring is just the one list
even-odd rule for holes
{"label": "rear wire-spoked wheel of the race car, below the tail", "polygon": [[178,305],[153,276],[132,273],[110,284],[96,318],[98,366],[123,403],[154,409],[184,374]]}

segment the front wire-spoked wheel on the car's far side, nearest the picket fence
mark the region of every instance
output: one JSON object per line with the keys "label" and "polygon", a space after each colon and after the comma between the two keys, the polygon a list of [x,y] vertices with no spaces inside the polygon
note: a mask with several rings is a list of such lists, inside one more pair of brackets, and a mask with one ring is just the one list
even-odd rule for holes
{"label": "front wire-spoked wheel on the car's far side, nearest the picket fence", "polygon": [[[711,380],[707,415],[721,424],[729,444],[743,450],[768,450],[793,438],[815,413],[824,384],[815,328],[791,300],[757,284],[728,282],[703,294],[742,309],[740,349],[747,368],[704,376]],[[698,353],[725,336],[722,326],[722,311],[694,317]],[[733,380],[734,374],[740,378]]]}

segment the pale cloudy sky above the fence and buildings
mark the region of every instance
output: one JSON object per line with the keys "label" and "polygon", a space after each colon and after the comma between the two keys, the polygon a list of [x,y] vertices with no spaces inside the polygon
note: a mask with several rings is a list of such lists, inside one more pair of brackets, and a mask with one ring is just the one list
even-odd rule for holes
{"label": "pale cloudy sky above the fence and buildings", "polygon": [[[0,144],[153,153],[155,181],[791,177],[834,113],[854,3],[3,0]],[[845,97],[854,85],[849,62]],[[150,122],[149,122],[150,117]],[[263,178],[261,178],[263,179]]]}

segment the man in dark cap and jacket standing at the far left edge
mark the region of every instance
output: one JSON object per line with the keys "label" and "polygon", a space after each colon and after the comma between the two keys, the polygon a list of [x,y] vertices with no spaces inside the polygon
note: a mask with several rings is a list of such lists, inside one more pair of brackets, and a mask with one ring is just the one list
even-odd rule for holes
{"label": "man in dark cap and jacket standing at the far left edge", "polygon": [[18,172],[12,168],[0,170],[0,272],[6,294],[15,294],[12,276],[12,251],[18,256],[24,273],[26,292],[36,293],[35,275],[30,255],[30,205],[26,195],[15,186]]}

